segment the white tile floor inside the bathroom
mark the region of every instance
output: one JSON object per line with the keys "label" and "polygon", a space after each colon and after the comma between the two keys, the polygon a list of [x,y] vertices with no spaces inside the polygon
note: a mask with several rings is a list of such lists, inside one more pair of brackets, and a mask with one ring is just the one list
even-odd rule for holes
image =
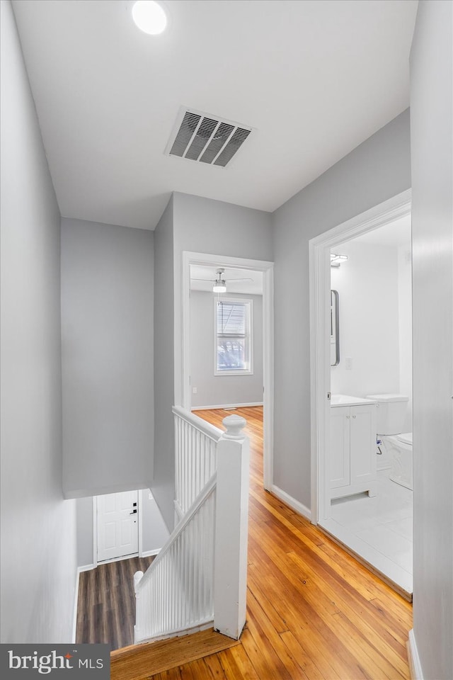
{"label": "white tile floor inside the bathroom", "polygon": [[357,494],[331,502],[328,531],[367,562],[412,593],[412,491],[378,472],[377,495]]}

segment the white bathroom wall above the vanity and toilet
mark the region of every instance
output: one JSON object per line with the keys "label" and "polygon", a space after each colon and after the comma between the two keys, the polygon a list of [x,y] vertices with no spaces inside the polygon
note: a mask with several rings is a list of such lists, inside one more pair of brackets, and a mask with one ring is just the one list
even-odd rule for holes
{"label": "white bathroom wall above the vanity and toilet", "polygon": [[331,391],[399,392],[398,251],[355,241],[338,250],[348,261],[331,267],[340,312],[340,363],[331,368]]}

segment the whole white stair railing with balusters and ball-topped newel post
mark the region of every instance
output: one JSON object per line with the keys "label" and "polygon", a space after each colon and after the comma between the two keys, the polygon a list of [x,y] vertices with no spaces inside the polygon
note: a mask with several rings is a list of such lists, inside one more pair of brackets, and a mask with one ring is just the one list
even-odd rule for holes
{"label": "whole white stair railing with balusters and ball-topped newel post", "polygon": [[239,640],[246,621],[246,421],[228,416],[222,432],[180,407],[173,416],[177,523],[147,572],[134,576],[134,642],[208,628]]}

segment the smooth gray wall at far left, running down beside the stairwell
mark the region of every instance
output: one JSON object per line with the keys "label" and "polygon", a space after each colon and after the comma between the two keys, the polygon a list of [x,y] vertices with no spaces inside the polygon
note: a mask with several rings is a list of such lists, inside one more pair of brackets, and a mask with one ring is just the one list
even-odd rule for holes
{"label": "smooth gray wall at far left, running down beside the stairwell", "polygon": [[70,642],[59,210],[11,4],[1,2],[1,642]]}

